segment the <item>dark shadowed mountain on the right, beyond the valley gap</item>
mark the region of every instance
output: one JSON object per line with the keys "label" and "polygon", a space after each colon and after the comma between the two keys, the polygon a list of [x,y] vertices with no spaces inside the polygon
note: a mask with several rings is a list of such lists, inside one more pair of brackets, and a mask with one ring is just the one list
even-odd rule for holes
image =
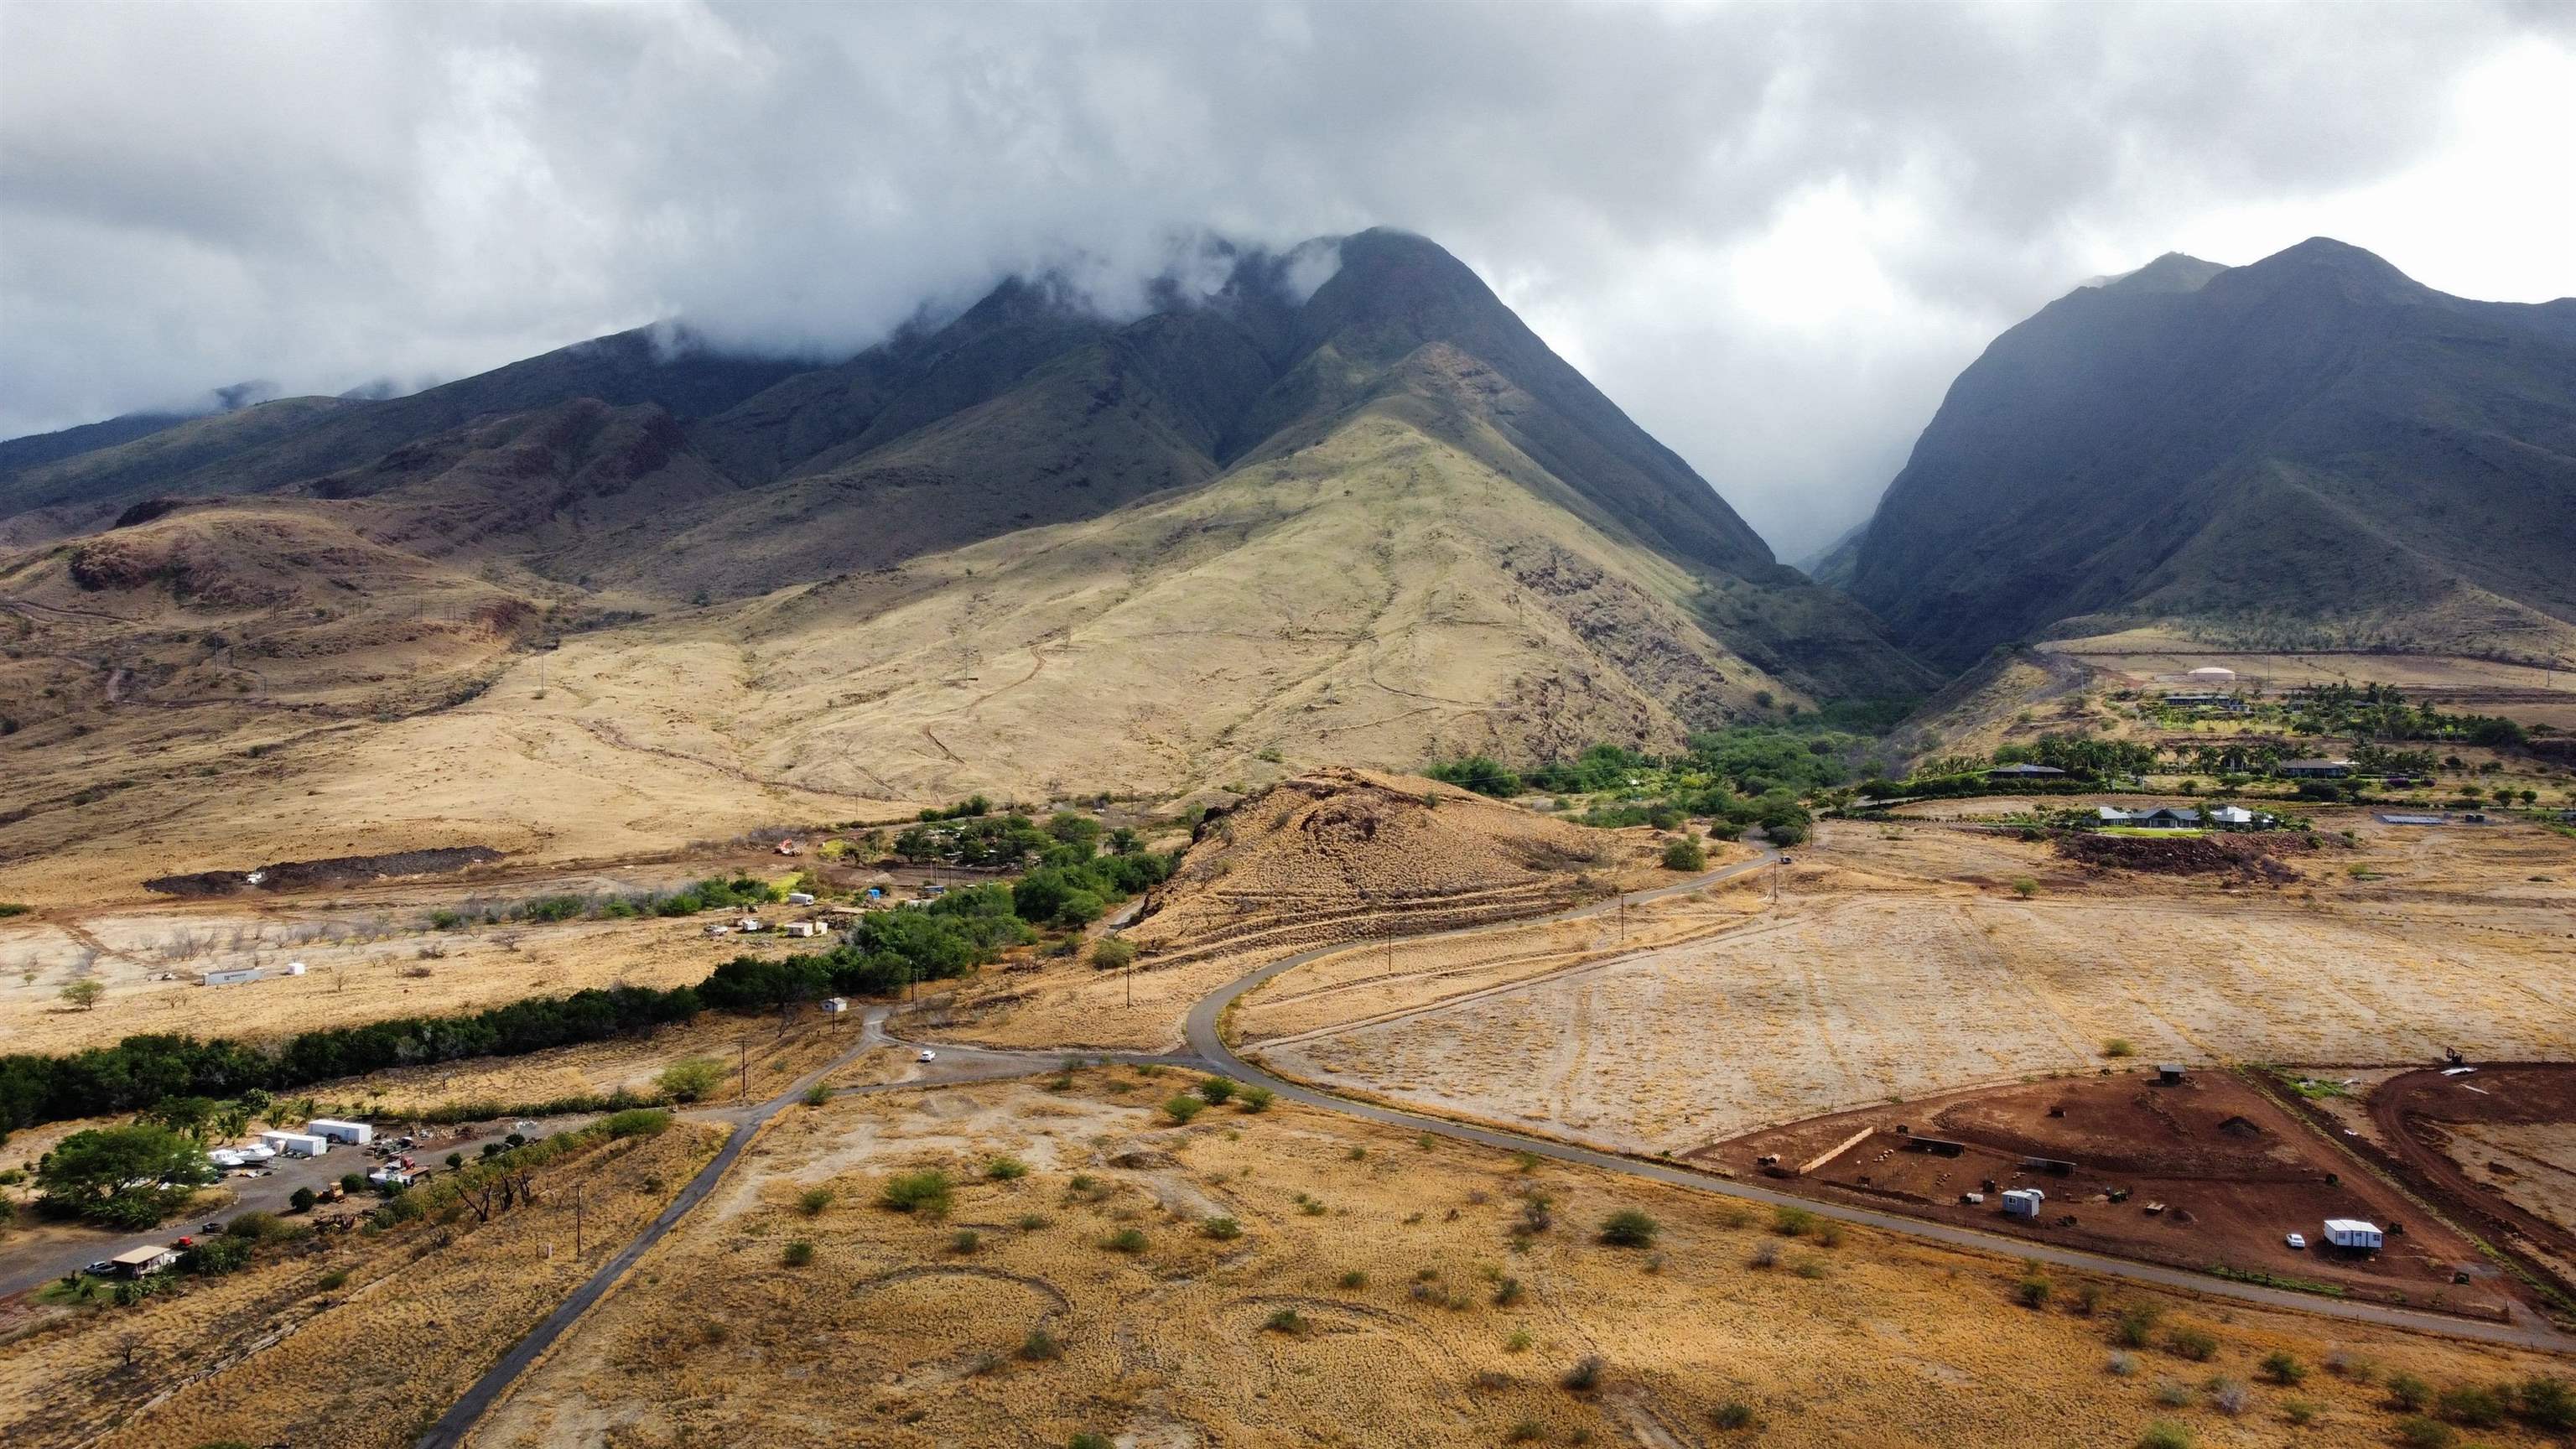
{"label": "dark shadowed mountain on the right, beyond the valley gap", "polygon": [[2465,302],[2311,240],[2159,258],[1986,348],[1850,588],[1947,665],[2174,624],[2543,657],[2576,637],[2576,302]]}

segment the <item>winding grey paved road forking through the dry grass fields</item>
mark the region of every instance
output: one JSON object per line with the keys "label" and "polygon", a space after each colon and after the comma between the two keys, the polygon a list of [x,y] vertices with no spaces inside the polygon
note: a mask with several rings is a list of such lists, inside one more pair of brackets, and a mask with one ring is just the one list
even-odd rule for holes
{"label": "winding grey paved road forking through the dry grass fields", "polygon": [[[1638,892],[1628,892],[1628,895],[1620,895],[1620,897],[1600,900],[1595,905],[1577,905],[1571,910],[1556,910],[1551,915],[1533,915],[1533,918],[1512,920],[1510,926],[1533,926],[1533,923],[1553,923],[1553,920],[1582,920],[1582,918],[1589,918],[1589,915],[1602,915],[1602,913],[1610,913],[1610,910],[1620,910],[1623,905],[1643,905],[1649,900],[1664,900],[1664,897],[1674,897],[1674,895],[1690,895],[1690,892],[1698,892],[1698,890],[1708,890],[1710,884],[1718,884],[1723,879],[1734,879],[1734,877],[1741,877],[1741,874],[1749,874],[1749,871],[1767,869],[1767,866],[1777,864],[1780,859],[1783,856],[1777,851],[1765,851],[1765,853],[1754,856],[1752,861],[1736,861],[1734,866],[1705,871],[1705,874],[1690,877],[1690,879],[1677,882],[1677,884],[1654,887],[1654,890],[1638,890]],[[1445,936],[1473,936],[1473,933],[1494,931],[1497,926],[1499,923],[1461,926],[1461,928],[1450,928],[1450,931],[1430,931],[1430,933],[1422,933],[1422,936],[1409,936],[1409,941],[1437,941],[1437,938],[1445,938]],[[1852,1225],[1862,1225],[1862,1227],[1878,1227],[1883,1232],[1901,1232],[1901,1235],[1911,1235],[1911,1238],[1927,1238],[1932,1243],[1947,1243],[1953,1248],[1968,1248],[1968,1250],[1976,1250],[1976,1253],[1999,1253],[1999,1256],[2025,1258],[2025,1261],[2035,1261],[2035,1263],[2050,1263],[2050,1266],[2061,1266],[2061,1269],[2081,1269],[2081,1271],[2102,1274],[2102,1276],[2112,1276],[2112,1279],[2156,1284],[2156,1287],[2169,1287],[2169,1289],[2182,1289],[2182,1292],[2195,1292],[2195,1294],[2208,1294],[2208,1297],[2228,1297],[2228,1299],[2251,1302],[2251,1305],[2262,1305],[2262,1307],[2287,1307],[2287,1310],[2295,1310],[2295,1312],[2313,1312],[2313,1315],[2324,1315],[2324,1318],[2344,1318],[2344,1320],[2354,1320],[2354,1323],[2375,1323],[2375,1325],[2385,1325],[2385,1328],[2411,1328],[2411,1330],[2419,1330],[2419,1333],[2439,1333],[2439,1336],[2450,1336],[2450,1338],[2473,1338],[2473,1341],[2483,1341],[2483,1343],[2506,1343],[2506,1346],[2514,1346],[2514,1348],[2543,1348],[2543,1351],[2553,1351],[2553,1354],[2571,1354],[2571,1351],[2576,1351],[2576,1336],[2558,1333],[2548,1323],[2478,1323],[2478,1320],[2470,1320],[2470,1318],[2450,1318],[2450,1315],[2439,1315],[2439,1312],[2419,1312],[2419,1310],[2388,1307],[2388,1305],[2375,1305],[2375,1302],[2331,1299],[2331,1297],[2300,1294],[2300,1292],[2287,1292],[2287,1289],[2267,1289],[2267,1287],[2259,1287],[2259,1284],[2236,1284],[2236,1281],[2226,1281],[2226,1279],[2213,1279],[2208,1274],[2192,1274],[2192,1271],[2182,1271],[2182,1269],[2161,1269],[2156,1263],[2138,1263],[2138,1261],[2130,1261],[2130,1258],[2110,1258],[2110,1256],[2102,1256],[2102,1253],[2084,1253],[2084,1250],[2076,1250],[2076,1248],[2058,1248],[2053,1243],[2032,1243],[2032,1240],[2025,1240],[2025,1238],[2007,1238],[2002,1232],[1978,1232],[1973,1227],[1953,1227],[1947,1222],[1924,1222],[1924,1220],[1917,1220],[1917,1217],[1901,1217],[1901,1214],[1893,1214],[1893,1212],[1875,1212],[1875,1209],[1868,1209],[1868,1207],[1844,1207],[1844,1204],[1834,1204],[1834,1201],[1819,1201],[1819,1199],[1811,1199],[1811,1196],[1793,1196],[1793,1194],[1772,1191],[1772,1189],[1754,1186],[1754,1183],[1741,1183],[1741,1181],[1718,1178],[1718,1176],[1710,1176],[1710,1173],[1698,1173],[1698,1171],[1690,1171],[1690,1168],[1674,1168],[1674,1165],[1654,1163],[1654,1160],[1643,1160],[1643,1158],[1623,1158],[1618,1152],[1602,1152],[1597,1147],[1579,1147],[1574,1142],[1564,1142],[1564,1140],[1556,1140],[1556,1137],[1525,1137],[1520,1132],[1504,1132],[1504,1129],[1497,1129],[1497,1127],[1476,1127],[1476,1124],[1466,1124],[1466,1122],[1450,1122],[1445,1116],[1430,1116],[1430,1114],[1419,1114],[1419,1111],[1404,1111],[1404,1109],[1396,1109],[1396,1106],[1378,1106],[1378,1104],[1370,1104],[1370,1101],[1352,1101],[1352,1098],[1345,1098],[1345,1096],[1316,1091],[1316,1088],[1311,1088],[1306,1083],[1298,1083],[1298,1080],[1291,1080],[1291,1078],[1270,1075],[1267,1070],[1262,1070],[1262,1067],[1247,1062],[1244,1057],[1234,1055],[1234,1047],[1229,1047],[1226,1039],[1224,1039],[1224,1018],[1226,1018],[1226,1008],[1229,1006],[1234,1006],[1247,993],[1257,990],[1262,982],[1267,982],[1267,980],[1273,980],[1273,977],[1278,977],[1283,972],[1293,972],[1296,967],[1303,967],[1303,964],[1309,964],[1314,959],[1329,957],[1334,951],[1350,951],[1350,949],[1352,949],[1350,941],[1337,941],[1337,944],[1329,944],[1329,946],[1314,946],[1314,949],[1298,951],[1293,957],[1283,957],[1278,962],[1270,962],[1270,964],[1265,964],[1265,967],[1260,967],[1260,969],[1255,969],[1255,972],[1249,972],[1244,977],[1236,977],[1236,980],[1226,982],[1224,987],[1208,993],[1195,1006],[1190,1006],[1190,1016],[1185,1021],[1185,1034],[1188,1034],[1188,1042],[1190,1042],[1188,1052],[1162,1052],[1162,1055],[1157,1055],[1157,1052],[1087,1052],[1087,1049],[1084,1052],[1002,1052],[1002,1049],[992,1049],[992,1047],[956,1047],[956,1044],[930,1042],[927,1047],[933,1047],[938,1052],[938,1062],[914,1062],[922,1070],[917,1070],[917,1073],[912,1073],[909,1078],[902,1078],[902,1080],[871,1083],[871,1085],[853,1085],[853,1088],[835,1088],[835,1096],[842,1096],[842,1093],[904,1091],[904,1088],[917,1088],[917,1085],[953,1085],[953,1083],[979,1083],[979,1080],[1007,1080],[1007,1078],[1020,1078],[1020,1075],[1048,1070],[1048,1067],[1054,1067],[1056,1062],[1061,1062],[1069,1055],[1079,1055],[1079,1057],[1087,1057],[1087,1060],[1108,1060],[1108,1062],[1190,1065],[1190,1067],[1226,1073],[1226,1075],[1239,1078],[1239,1080],[1262,1083],[1273,1093],[1278,1093],[1278,1096],[1283,1096],[1288,1101],[1303,1104],[1303,1106],[1316,1106],[1316,1109],[1324,1109],[1324,1111],[1340,1111],[1345,1116],[1358,1116],[1358,1119],[1378,1122],[1378,1124],[1386,1124],[1386,1127],[1404,1127],[1404,1129],[1414,1129],[1414,1132],[1435,1132],[1440,1137],[1455,1137],[1461,1142],[1476,1142],[1476,1145],[1484,1145],[1484,1147],[1502,1147],[1502,1150],[1510,1150],[1510,1152],[1535,1152],[1540,1158],[1551,1158],[1551,1160],[1558,1160],[1558,1163],[1577,1163],[1577,1165],[1584,1165],[1584,1168],[1600,1168],[1600,1171],[1607,1171],[1607,1173],[1620,1173],[1620,1176],[1643,1178],[1643,1181],[1667,1183],[1667,1186],[1690,1189],[1690,1191],[1734,1196],[1734,1199],[1741,1199],[1741,1201],[1757,1201],[1757,1204],[1772,1204],[1772,1207],[1803,1207],[1803,1209],[1808,1209],[1808,1212],[1814,1212],[1819,1217],[1834,1217],[1839,1222],[1852,1222]],[[814,1083],[819,1083],[829,1073],[845,1067],[848,1062],[853,1062],[858,1055],[863,1055],[868,1049],[876,1049],[876,1047],[904,1047],[904,1049],[920,1047],[917,1042],[904,1042],[904,1039],[889,1036],[886,1034],[886,1016],[889,1016],[889,1008],[884,1008],[884,1006],[868,1011],[868,1016],[866,1016],[866,1021],[860,1026],[860,1039],[848,1052],[842,1052],[840,1057],[832,1057],[822,1067],[814,1067],[811,1073],[796,1078],[796,1083],[788,1085],[775,1098],[770,1098],[770,1101],[765,1101],[760,1106],[750,1106],[750,1109],[739,1109],[737,1106],[737,1109],[726,1109],[726,1111],[690,1114],[690,1116],[696,1116],[701,1122],[703,1119],[719,1119],[719,1122],[732,1122],[734,1124],[732,1137],[724,1140],[724,1147],[716,1152],[716,1158],[708,1160],[706,1168],[701,1168],[698,1176],[690,1178],[685,1189],[680,1189],[680,1196],[675,1196],[670,1201],[670,1207],[665,1207],[652,1220],[652,1225],[647,1225],[644,1232],[636,1235],[634,1243],[629,1243],[613,1258],[608,1258],[608,1263],[603,1263],[595,1274],[590,1274],[590,1279],[585,1279],[582,1287],[577,1287],[572,1292],[572,1297],[567,1297],[562,1305],[556,1305],[556,1310],[551,1315],[546,1315],[544,1323],[538,1323],[526,1338],[520,1338],[507,1354],[502,1354],[502,1359],[497,1364],[492,1364],[492,1369],[482,1379],[477,1379],[474,1387],[466,1390],[466,1395],[459,1397],[456,1405],[451,1405],[448,1413],[443,1413],[438,1418],[438,1423],[433,1423],[428,1428],[428,1434],[422,1434],[417,1439],[417,1449],[456,1449],[456,1446],[461,1446],[466,1441],[466,1436],[471,1436],[471,1431],[482,1421],[482,1415],[520,1379],[520,1374],[526,1374],[528,1366],[536,1364],[536,1359],[541,1359],[546,1354],[546,1348],[551,1348],[564,1336],[564,1330],[569,1330],[595,1302],[600,1302],[603,1297],[608,1297],[608,1292],[618,1284],[618,1279],[623,1279],[626,1271],[634,1269],[634,1263],[647,1250],[652,1250],[654,1243],[662,1240],[662,1235],[667,1235],[683,1217],[688,1217],[688,1212],[693,1207],[698,1207],[706,1199],[706,1194],[711,1194],[716,1189],[716,1183],[724,1178],[726,1171],[732,1171],[734,1160],[742,1158],[742,1150],[750,1145],[750,1140],[760,1132],[760,1127],[768,1119],[778,1116],[781,1111],[786,1111],[788,1106],[793,1106],[796,1101],[801,1101],[804,1093],[806,1093],[806,1088],[811,1088]]]}

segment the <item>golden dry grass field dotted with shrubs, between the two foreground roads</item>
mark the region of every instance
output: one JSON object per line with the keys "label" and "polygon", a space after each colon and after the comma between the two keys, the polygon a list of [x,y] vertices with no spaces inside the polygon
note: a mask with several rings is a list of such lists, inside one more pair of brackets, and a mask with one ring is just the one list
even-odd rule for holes
{"label": "golden dry grass field dotted with shrubs, between the two foreground roads", "polygon": [[[2375,1444],[2393,1415],[2357,1379],[2262,1382],[2233,1415],[2202,1385],[2246,1385],[2272,1351],[2434,1382],[2553,1366],[2117,1284],[2092,1284],[2099,1302],[2079,1312],[2074,1274],[2032,1312],[2004,1258],[1860,1230],[1783,1238],[1700,1194],[1522,1173],[1502,1152],[1296,1106],[1172,1127],[1154,1104],[1190,1080],[1084,1070],[1061,1093],[989,1083],[781,1119],[495,1408],[477,1449],[1077,1434],[1157,1449],[1893,1449],[2130,1444],[2159,1418],[2208,1444]],[[1005,1155],[1025,1176],[994,1176]],[[878,1207],[914,1171],[956,1183],[945,1214]],[[814,1189],[829,1201],[809,1214]],[[1548,1227],[1515,1235],[1533,1201]],[[1615,1209],[1651,1214],[1659,1240],[1597,1243]],[[2164,1310],[2156,1343],[2202,1328],[2213,1356],[2143,1348],[2107,1372],[2112,1310],[2141,1302]],[[1597,1379],[1566,1387],[1584,1361]],[[1736,1410],[1754,1423],[1721,1428]],[[2512,1428],[2488,1441],[2535,1444]]]}

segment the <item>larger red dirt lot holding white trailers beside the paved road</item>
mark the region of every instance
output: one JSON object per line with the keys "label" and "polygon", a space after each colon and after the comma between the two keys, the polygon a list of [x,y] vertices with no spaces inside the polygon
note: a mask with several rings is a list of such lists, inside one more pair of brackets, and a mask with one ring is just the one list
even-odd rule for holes
{"label": "larger red dirt lot holding white trailers beside the paved road", "polygon": [[[2501,1318],[2512,1279],[2486,1263],[2403,1194],[2349,1160],[2295,1114],[2223,1070],[2192,1070],[2164,1085],[2154,1070],[2050,1078],[1924,1101],[1842,1111],[1718,1142],[1692,1160],[1762,1173],[1777,1155],[1795,1173],[1868,1129],[1806,1176],[1770,1186],[1914,1217],[2030,1235],[2066,1248],[2146,1258],[2177,1269],[2226,1266],[2349,1297]],[[1958,1155],[1922,1150],[1958,1145]],[[2032,1160],[2056,1160],[2050,1171]],[[2329,1183],[2329,1176],[2336,1181]],[[2048,1194],[2038,1222],[2004,1217],[2002,1189]],[[1960,1201],[1984,1191],[1984,1204]],[[2112,1201],[2125,1194],[2123,1201]],[[2159,1212],[2148,1212],[2161,1204]],[[2324,1248],[2329,1217],[2362,1217],[2388,1232],[2378,1253]],[[2403,1225],[2403,1232],[2393,1227]],[[2285,1235],[2303,1232],[2308,1248]],[[2468,1284],[2452,1284],[2468,1271]]]}

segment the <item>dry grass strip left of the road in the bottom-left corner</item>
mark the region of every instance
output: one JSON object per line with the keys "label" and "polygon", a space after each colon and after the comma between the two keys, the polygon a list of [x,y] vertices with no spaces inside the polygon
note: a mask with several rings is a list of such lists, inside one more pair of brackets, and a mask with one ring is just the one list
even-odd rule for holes
{"label": "dry grass strip left of the road in the bottom-left corner", "polygon": [[[675,1127],[562,1158],[538,1201],[270,1250],[137,1307],[67,1310],[0,1343],[0,1441],[173,1449],[410,1444],[714,1155]],[[585,1256],[572,1256],[574,1183]]]}

